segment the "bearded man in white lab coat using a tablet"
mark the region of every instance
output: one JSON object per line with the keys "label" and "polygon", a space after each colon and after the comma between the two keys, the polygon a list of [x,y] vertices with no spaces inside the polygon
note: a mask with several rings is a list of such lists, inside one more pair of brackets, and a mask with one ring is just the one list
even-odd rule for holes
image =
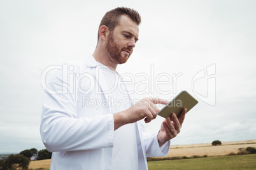
{"label": "bearded man in white lab coat using a tablet", "polygon": [[141,120],[155,119],[155,104],[167,101],[144,98],[133,105],[132,89],[116,72],[136,46],[140,22],[135,10],[108,11],[93,55],[54,70],[46,79],[48,89],[61,90],[46,91],[43,100],[40,131],[53,152],[51,169],[148,169],[146,157],[169,152],[169,140],[180,133],[186,109],[162,122],[159,133],[146,133]]}

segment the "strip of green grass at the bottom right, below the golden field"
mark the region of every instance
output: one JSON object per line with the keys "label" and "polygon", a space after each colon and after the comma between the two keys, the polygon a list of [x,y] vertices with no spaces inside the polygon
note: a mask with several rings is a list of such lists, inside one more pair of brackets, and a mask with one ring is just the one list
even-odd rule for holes
{"label": "strip of green grass at the bottom right, below the golden field", "polygon": [[256,154],[148,162],[149,170],[256,169]]}

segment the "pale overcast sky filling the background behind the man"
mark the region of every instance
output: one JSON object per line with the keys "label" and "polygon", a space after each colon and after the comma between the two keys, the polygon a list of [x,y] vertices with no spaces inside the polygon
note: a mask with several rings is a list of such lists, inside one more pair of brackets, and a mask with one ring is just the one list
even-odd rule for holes
{"label": "pale overcast sky filling the background behind the man", "polygon": [[[171,99],[186,90],[199,101],[172,145],[255,140],[256,1],[4,0],[0,153],[45,148],[39,135],[43,70],[92,55],[101,18],[118,6],[142,18],[134,53],[117,67],[136,82],[148,75],[137,86],[138,98]],[[155,85],[161,81],[166,84]],[[146,128],[158,131],[162,121],[157,117]]]}

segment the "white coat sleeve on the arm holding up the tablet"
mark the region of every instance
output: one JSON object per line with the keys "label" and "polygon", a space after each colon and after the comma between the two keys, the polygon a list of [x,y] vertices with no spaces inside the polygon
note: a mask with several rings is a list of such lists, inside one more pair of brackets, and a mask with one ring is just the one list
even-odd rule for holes
{"label": "white coat sleeve on the arm holding up the tablet", "polygon": [[145,147],[146,157],[165,157],[170,149],[171,141],[167,141],[164,145],[159,147],[157,140],[158,133],[147,133],[143,122],[139,122],[139,128],[143,135],[143,143]]}

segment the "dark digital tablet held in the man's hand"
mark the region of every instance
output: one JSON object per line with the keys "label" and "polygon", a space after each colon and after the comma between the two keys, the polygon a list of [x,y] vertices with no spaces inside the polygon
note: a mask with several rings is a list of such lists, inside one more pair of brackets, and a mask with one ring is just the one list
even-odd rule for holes
{"label": "dark digital tablet held in the man's hand", "polygon": [[167,118],[171,114],[176,114],[177,117],[181,114],[183,108],[187,108],[187,112],[193,108],[198,101],[191,96],[187,91],[181,91],[173,100],[171,100],[164,108],[162,108],[158,115]]}

